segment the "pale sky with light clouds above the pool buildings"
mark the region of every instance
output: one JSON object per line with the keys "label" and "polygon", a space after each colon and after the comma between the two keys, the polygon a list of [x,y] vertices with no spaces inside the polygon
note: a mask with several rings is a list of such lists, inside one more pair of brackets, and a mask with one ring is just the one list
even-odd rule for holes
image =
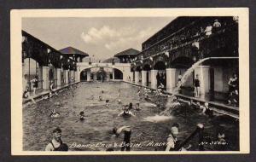
{"label": "pale sky with light clouds above the pool buildings", "polygon": [[22,18],[22,30],[54,49],[68,46],[98,60],[125,49],[142,50],[142,43],[175,17]]}

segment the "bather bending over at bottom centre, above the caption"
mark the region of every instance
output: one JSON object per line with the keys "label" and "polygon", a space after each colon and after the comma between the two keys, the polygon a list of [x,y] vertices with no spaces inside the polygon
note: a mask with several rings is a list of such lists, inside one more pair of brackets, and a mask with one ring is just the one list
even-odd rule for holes
{"label": "bather bending over at bottom centre, above the caption", "polygon": [[122,126],[119,129],[113,128],[113,135],[118,137],[120,133],[124,132],[124,141],[121,144],[121,151],[130,151],[130,139],[131,139],[131,127],[130,126]]}

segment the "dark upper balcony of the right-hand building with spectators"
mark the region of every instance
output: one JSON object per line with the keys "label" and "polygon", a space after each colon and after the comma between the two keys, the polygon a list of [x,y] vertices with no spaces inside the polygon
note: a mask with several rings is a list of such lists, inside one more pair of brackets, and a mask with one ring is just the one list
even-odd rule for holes
{"label": "dark upper balcony of the right-hand building with spectators", "polygon": [[[137,55],[135,61],[166,52],[171,53],[171,55],[173,51],[188,52],[192,46],[197,47],[201,53],[205,54],[225,46],[228,49],[238,49],[237,21],[233,20],[233,17],[223,17],[218,19],[221,26],[213,27],[212,22],[215,19],[216,17],[207,17],[193,21],[188,26],[184,26],[177,32],[144,49]],[[238,55],[237,51],[236,55]]]}

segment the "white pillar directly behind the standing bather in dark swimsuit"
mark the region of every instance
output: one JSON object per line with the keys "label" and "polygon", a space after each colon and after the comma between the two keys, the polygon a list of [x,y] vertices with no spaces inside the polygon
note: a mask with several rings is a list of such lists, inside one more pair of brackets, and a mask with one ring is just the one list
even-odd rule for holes
{"label": "white pillar directly behind the standing bather in dark swimsuit", "polygon": [[195,76],[198,74],[200,80],[200,93],[204,95],[210,90],[210,68],[209,66],[199,66],[195,68]]}

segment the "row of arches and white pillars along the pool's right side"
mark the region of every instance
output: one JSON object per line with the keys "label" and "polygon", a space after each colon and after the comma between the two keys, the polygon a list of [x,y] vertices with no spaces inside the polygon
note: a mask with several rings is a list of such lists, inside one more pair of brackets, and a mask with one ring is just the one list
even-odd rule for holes
{"label": "row of arches and white pillars along the pool's right side", "polygon": [[[195,61],[189,57],[178,57],[172,62],[161,59],[160,61],[148,61],[144,64],[138,63],[137,67],[131,68],[131,81],[154,89],[161,83],[167,91],[172,92],[177,87],[178,76],[183,76],[184,72],[194,63]],[[237,65],[236,60],[206,61],[191,72],[182,86],[193,89],[194,78],[198,74],[201,80],[201,94],[210,91],[227,92],[230,76],[233,72],[238,72]]]}

